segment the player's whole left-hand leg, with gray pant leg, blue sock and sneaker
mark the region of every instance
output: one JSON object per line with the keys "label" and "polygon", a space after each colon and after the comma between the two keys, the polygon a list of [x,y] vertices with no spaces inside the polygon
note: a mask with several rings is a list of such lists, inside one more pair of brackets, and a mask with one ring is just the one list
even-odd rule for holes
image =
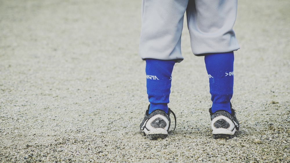
{"label": "player's whole left-hand leg, with gray pant leg, blue sock and sneaker", "polygon": [[[170,127],[169,94],[175,62],[181,62],[181,33],[188,0],[143,0],[139,54],[146,60],[150,105],[140,131],[148,139],[165,138]],[[173,114],[174,115],[174,114]]]}

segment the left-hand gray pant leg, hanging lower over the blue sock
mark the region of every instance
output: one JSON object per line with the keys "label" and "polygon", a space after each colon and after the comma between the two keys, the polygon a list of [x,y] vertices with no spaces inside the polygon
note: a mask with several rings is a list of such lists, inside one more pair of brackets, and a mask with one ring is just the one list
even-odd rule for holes
{"label": "left-hand gray pant leg, hanging lower over the blue sock", "polygon": [[181,62],[181,33],[188,0],[142,0],[139,54]]}

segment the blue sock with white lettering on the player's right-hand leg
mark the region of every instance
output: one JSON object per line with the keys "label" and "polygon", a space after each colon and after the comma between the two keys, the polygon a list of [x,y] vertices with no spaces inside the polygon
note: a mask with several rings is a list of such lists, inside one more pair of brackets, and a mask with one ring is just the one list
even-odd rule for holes
{"label": "blue sock with white lettering on the player's right-hand leg", "polygon": [[234,53],[216,53],[204,56],[209,75],[209,87],[213,102],[211,111],[225,110],[231,113],[230,101],[233,96]]}

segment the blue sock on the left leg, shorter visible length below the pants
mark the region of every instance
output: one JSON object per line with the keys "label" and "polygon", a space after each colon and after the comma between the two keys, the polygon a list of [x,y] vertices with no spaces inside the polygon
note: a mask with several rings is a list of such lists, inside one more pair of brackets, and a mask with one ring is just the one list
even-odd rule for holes
{"label": "blue sock on the left leg, shorter visible length below the pants", "polygon": [[171,74],[174,60],[146,59],[147,94],[150,102],[149,114],[161,109],[168,113]]}

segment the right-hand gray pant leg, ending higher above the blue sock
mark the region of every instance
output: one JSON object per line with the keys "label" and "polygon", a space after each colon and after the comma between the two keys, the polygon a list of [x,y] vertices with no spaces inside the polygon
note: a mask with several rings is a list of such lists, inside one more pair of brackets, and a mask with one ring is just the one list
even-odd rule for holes
{"label": "right-hand gray pant leg, ending higher above the blue sock", "polygon": [[233,31],[237,0],[189,1],[186,17],[195,55],[223,53],[240,47]]}

